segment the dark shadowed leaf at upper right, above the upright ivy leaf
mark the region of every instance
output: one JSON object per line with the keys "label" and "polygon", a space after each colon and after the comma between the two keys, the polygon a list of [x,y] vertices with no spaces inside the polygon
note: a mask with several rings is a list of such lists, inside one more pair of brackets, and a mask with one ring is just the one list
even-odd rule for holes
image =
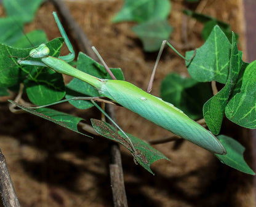
{"label": "dark shadowed leaf at upper right, above the upright ivy leaf", "polygon": [[[204,28],[202,29],[202,39],[206,40],[214,26],[218,25],[222,29],[222,31],[226,34],[226,37],[228,37],[228,40],[231,42],[232,41],[232,31],[230,25],[225,23],[224,21],[220,21],[217,18],[211,17],[206,14],[200,14],[198,12],[194,12],[192,10],[183,10],[183,13],[195,18],[196,20],[200,21],[201,23],[204,23]],[[236,39],[238,39],[238,34],[235,33]]]}

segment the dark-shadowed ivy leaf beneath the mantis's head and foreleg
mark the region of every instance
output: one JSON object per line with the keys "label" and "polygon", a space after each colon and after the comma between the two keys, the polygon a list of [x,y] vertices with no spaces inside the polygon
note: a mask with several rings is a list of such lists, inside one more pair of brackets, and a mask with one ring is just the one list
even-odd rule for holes
{"label": "dark-shadowed ivy leaf beneath the mantis's head and foreleg", "polygon": [[[58,57],[63,38],[47,42],[51,56]],[[53,74],[52,70],[39,67],[18,65],[17,58],[27,58],[31,49],[14,49],[0,44],[0,87],[12,87],[24,82],[30,101],[37,105],[54,103],[65,95],[62,74]],[[17,58],[15,58],[17,57]],[[54,77],[55,80],[51,78]]]}

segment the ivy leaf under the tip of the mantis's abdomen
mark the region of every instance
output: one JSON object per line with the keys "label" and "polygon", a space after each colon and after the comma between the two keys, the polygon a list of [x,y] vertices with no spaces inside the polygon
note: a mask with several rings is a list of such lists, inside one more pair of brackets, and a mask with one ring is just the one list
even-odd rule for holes
{"label": "ivy leaf under the tip of the mantis's abdomen", "polygon": [[220,162],[231,166],[236,170],[239,170],[243,173],[255,175],[254,171],[247,165],[244,161],[244,146],[242,146],[238,141],[234,140],[225,135],[217,136],[223,146],[226,148],[226,155],[217,155],[215,156],[220,160]]}

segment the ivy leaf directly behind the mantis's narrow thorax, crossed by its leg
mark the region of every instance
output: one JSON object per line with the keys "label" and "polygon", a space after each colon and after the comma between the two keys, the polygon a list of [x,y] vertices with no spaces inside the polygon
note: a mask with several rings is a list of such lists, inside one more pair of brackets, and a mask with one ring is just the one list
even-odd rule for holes
{"label": "ivy leaf directly behind the mantis's narrow thorax, crossed by its leg", "polygon": [[[106,72],[104,66],[81,52],[78,55],[78,69],[100,79],[111,79],[110,74]],[[110,70],[117,79],[124,80],[124,75],[120,68],[110,68]],[[66,93],[66,99],[73,98],[74,96],[100,96],[94,87],[76,78],[73,78],[71,82],[66,85]],[[69,103],[78,109],[88,109],[94,106],[90,101],[84,100],[71,100]]]}

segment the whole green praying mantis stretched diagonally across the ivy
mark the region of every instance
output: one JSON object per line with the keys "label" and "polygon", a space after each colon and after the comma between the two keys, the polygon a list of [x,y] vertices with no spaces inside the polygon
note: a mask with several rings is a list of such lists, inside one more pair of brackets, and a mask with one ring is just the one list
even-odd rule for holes
{"label": "whole green praying mantis stretched diagonally across the ivy", "polygon": [[[53,69],[55,72],[76,77],[96,88],[101,96],[109,98],[130,111],[150,120],[156,125],[191,141],[191,143],[207,149],[214,154],[226,154],[225,147],[223,147],[222,143],[220,143],[210,131],[206,130],[206,128],[199,125],[199,123],[195,122],[193,119],[190,119],[190,117],[180,111],[177,107],[161,100],[161,98],[151,95],[149,93],[151,91],[150,87],[148,88],[148,92],[145,92],[129,82],[116,80],[103,60],[102,62],[106,70],[110,73],[110,76],[113,79],[98,79],[97,77],[90,76],[68,64],[68,62],[74,59],[74,50],[57,14],[55,12],[53,14],[58,28],[60,29],[60,33],[70,50],[70,54],[58,58],[50,57],[48,56],[49,48],[46,44],[41,44],[39,47],[30,51],[31,58],[41,58],[41,61],[20,59],[18,60],[19,64],[46,66]],[[97,50],[95,50],[95,48],[93,49],[97,53]],[[101,58],[99,54],[98,57]],[[155,68],[153,72],[155,72]]]}

